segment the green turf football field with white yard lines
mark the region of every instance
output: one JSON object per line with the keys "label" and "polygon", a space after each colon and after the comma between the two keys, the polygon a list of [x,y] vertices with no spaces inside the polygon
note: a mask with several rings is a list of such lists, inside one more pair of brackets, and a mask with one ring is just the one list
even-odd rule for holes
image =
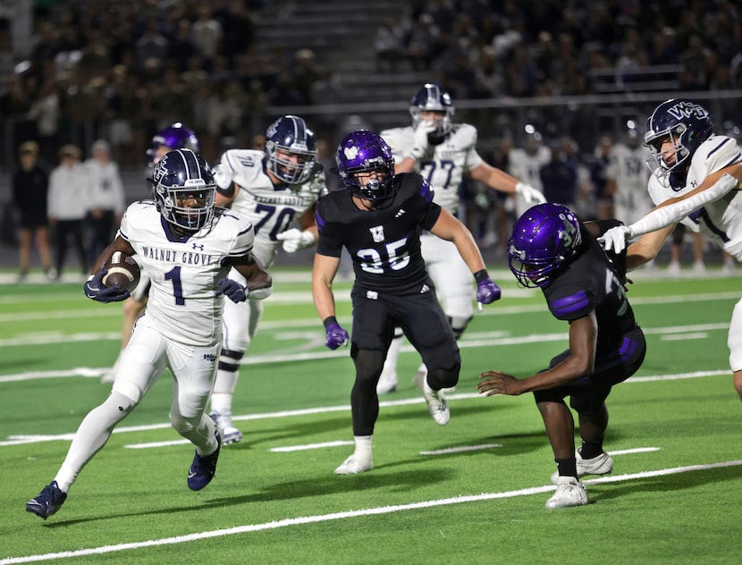
{"label": "green turf football field with white yard lines", "polygon": [[[608,400],[613,474],[586,480],[593,504],[545,510],[555,466],[532,398],[480,398],[475,384],[487,369],[543,368],[567,326],[540,291],[495,274],[503,298],[460,342],[451,422],[428,416],[404,349],[372,471],[333,474],[352,451],[349,351],[324,347],[308,273],[278,269],[234,401],[245,438],[223,448],[212,484],[186,486],[193,449],[168,424],[165,375],[46,522],[25,502],[110,388],[98,379],[121,306],[80,284],[0,287],[0,565],[738,562],[742,405],[726,343],[742,278],[637,275],[628,296],[648,352]],[[349,289],[336,296],[350,330]]]}

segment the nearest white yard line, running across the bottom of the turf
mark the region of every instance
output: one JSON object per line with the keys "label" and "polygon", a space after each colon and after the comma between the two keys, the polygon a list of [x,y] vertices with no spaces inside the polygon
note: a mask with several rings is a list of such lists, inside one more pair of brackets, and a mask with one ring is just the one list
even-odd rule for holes
{"label": "nearest white yard line, running across the bottom of the turf", "polygon": [[[713,468],[727,468],[727,467],[738,467],[742,465],[742,460],[736,461],[721,461],[719,463],[710,463],[706,465],[690,465],[687,467],[674,467],[674,468],[663,468],[655,471],[642,471],[640,473],[632,473],[628,475],[617,475],[617,476],[602,476],[600,478],[583,481],[586,485],[599,485],[602,483],[620,483],[623,481],[630,481],[635,479],[650,478],[653,476],[668,476],[676,475],[679,473],[687,473],[690,471],[703,471]],[[4,560],[0,560],[0,565],[14,565],[15,563],[32,563],[37,561],[52,561],[56,559],[66,559],[69,557],[83,557],[87,555],[102,555],[105,553],[123,552],[131,549],[140,549],[143,547],[157,547],[163,545],[174,545],[184,544],[187,542],[194,542],[203,539],[211,539],[215,537],[223,537],[225,535],[235,534],[247,534],[249,532],[260,532],[271,529],[278,529],[280,527],[291,527],[299,526],[302,524],[317,524],[320,522],[330,522],[339,519],[350,519],[358,518],[363,516],[380,516],[384,514],[392,514],[394,512],[401,512],[405,510],[418,510],[425,508],[435,508],[437,506],[448,506],[451,504],[463,504],[467,502],[481,502],[481,501],[492,501],[502,498],[515,498],[516,496],[529,496],[531,494],[538,493],[549,493],[556,489],[554,485],[546,486],[534,486],[530,488],[520,489],[518,491],[506,491],[504,493],[481,493],[481,494],[468,494],[461,496],[454,496],[451,498],[443,498],[434,501],[425,502],[412,502],[410,504],[395,504],[392,506],[380,506],[376,508],[368,508],[364,510],[349,510],[346,512],[333,512],[331,514],[319,514],[316,516],[301,516],[299,518],[285,518],[281,520],[274,520],[272,522],[265,522],[263,524],[249,524],[247,526],[230,527],[226,529],[211,530],[206,532],[198,532],[196,534],[188,535],[175,535],[173,537],[164,537],[160,539],[147,540],[144,542],[135,542],[130,544],[115,544],[115,545],[103,545],[101,547],[91,547],[89,549],[79,549],[73,552],[56,552],[56,553],[42,553],[39,555],[28,555],[24,557],[9,557]]]}

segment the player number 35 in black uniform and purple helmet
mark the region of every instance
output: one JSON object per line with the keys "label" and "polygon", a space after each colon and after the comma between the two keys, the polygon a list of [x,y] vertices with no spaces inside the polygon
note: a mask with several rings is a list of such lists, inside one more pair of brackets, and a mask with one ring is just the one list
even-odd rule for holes
{"label": "player number 35 in black uniform and purple helmet", "polygon": [[441,426],[450,411],[442,390],[459,380],[461,358],[451,325],[435,294],[420,253],[420,229],[451,241],[476,280],[476,299],[500,298],[471,233],[435,204],[433,190],[417,173],[394,173],[392,150],[372,131],[353,131],[341,141],[336,160],[350,190],[336,190],[317,202],[319,242],[312,271],[312,294],[325,324],[326,345],[335,350],[349,341],[335,318],[333,279],[341,250],[348,249],[356,277],[351,291],[353,335],[350,357],[356,367],[350,392],[355,451],[338,475],[374,467],[371,443],[379,399],[376,384],[392,342],[401,327],[420,353],[428,372],[416,384],[427,409]]}

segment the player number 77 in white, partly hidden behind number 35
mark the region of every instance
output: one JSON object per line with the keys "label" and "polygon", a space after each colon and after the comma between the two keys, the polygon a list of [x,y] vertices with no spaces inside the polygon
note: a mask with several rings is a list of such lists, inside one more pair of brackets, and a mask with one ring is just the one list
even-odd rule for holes
{"label": "player number 77 in white, partly hidden behind number 35", "polygon": [[[485,163],[476,152],[476,128],[468,123],[451,122],[453,113],[451,97],[438,85],[426,84],[417,91],[409,102],[412,125],[381,132],[392,148],[396,173],[422,174],[434,190],[435,203],[451,215],[456,215],[459,209],[459,185],[464,174],[494,190],[517,195],[519,201],[528,203],[527,207],[544,202],[544,195],[532,186]],[[443,310],[459,339],[474,316],[471,273],[451,241],[423,233],[420,245],[427,271],[443,301]],[[398,329],[379,379],[380,394],[397,388],[401,337]],[[425,375],[425,363],[417,372]]]}

